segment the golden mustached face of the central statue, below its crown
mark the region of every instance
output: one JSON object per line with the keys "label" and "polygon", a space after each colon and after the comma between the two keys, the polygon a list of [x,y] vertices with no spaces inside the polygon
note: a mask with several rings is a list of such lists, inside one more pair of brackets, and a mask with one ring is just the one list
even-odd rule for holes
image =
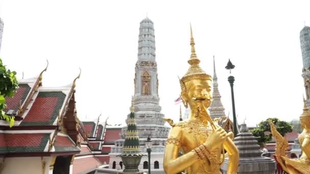
{"label": "golden mustached face of the central statue, below its crown", "polygon": [[191,109],[203,105],[208,108],[211,104],[211,80],[192,79],[185,82],[186,93],[182,94],[182,98],[189,104]]}

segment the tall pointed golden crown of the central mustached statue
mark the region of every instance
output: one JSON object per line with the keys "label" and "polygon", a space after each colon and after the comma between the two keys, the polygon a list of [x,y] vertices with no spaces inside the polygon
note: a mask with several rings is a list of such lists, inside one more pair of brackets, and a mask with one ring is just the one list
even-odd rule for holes
{"label": "tall pointed golden crown of the central mustached statue", "polygon": [[186,74],[180,79],[180,82],[184,83],[186,81],[189,81],[191,79],[206,79],[206,80],[212,80],[211,75],[206,74],[199,66],[200,60],[198,59],[195,51],[195,41],[193,38],[193,31],[192,31],[192,25],[191,26],[191,57],[190,60],[188,60],[188,63],[190,64],[190,68],[187,70]]}

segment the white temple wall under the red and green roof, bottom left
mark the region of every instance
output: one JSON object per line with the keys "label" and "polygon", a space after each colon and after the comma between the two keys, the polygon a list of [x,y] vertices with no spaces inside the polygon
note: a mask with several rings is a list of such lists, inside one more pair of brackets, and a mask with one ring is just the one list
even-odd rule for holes
{"label": "white temple wall under the red and green roof, bottom left", "polygon": [[[44,173],[48,174],[51,157],[43,160],[46,161]],[[2,173],[42,173],[41,157],[5,158]]]}

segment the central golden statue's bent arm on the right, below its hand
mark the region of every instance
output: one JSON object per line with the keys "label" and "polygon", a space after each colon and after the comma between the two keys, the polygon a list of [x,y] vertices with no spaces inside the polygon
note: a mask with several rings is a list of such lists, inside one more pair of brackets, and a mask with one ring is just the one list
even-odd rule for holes
{"label": "central golden statue's bent arm on the right, below its hand", "polygon": [[239,151],[229,137],[224,141],[224,149],[227,151],[229,158],[227,173],[237,173],[239,165]]}

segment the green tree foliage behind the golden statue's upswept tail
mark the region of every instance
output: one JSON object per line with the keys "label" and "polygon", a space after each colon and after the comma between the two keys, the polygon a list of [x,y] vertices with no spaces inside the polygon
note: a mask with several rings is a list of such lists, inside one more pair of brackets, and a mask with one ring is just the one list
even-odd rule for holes
{"label": "green tree foliage behind the golden statue's upswept tail", "polygon": [[[282,135],[285,136],[286,133],[293,131],[293,126],[290,123],[285,121],[280,121],[277,118],[269,118],[266,121],[262,121],[257,128],[251,130],[253,136],[257,138],[259,144],[262,145],[272,139],[272,134],[270,130],[269,121],[276,126],[277,131]],[[268,135],[265,132],[269,132]]]}

